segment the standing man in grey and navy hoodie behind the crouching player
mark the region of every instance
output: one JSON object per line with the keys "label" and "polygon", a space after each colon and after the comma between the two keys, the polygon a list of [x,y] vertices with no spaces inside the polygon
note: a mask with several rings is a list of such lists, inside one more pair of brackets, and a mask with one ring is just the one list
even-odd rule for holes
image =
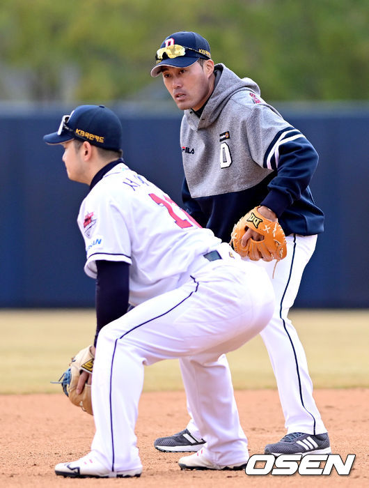
{"label": "standing man in grey and navy hoodie behind the crouching player", "polygon": [[[187,212],[223,241],[230,241],[234,224],[255,206],[261,215],[278,220],[285,232],[287,257],[278,263],[274,277],[276,261],[253,256],[269,273],[276,294],[274,316],[260,335],[272,362],[287,429],[265,453],[329,453],[304,348],[288,319],[317,234],[323,231],[324,214],[308,187],[318,155],[306,137],[260,97],[252,79],[241,79],[222,63],[214,65],[209,43],[196,32],[166,37],[150,74],[162,74],[166,89],[184,111],[180,146]],[[247,229],[242,244],[250,238],[262,237]],[[185,385],[193,381],[191,360],[180,359]],[[213,366],[214,371],[228,368],[226,357]],[[185,430],[159,438],[154,445],[164,452],[194,452],[205,442],[191,418]]]}

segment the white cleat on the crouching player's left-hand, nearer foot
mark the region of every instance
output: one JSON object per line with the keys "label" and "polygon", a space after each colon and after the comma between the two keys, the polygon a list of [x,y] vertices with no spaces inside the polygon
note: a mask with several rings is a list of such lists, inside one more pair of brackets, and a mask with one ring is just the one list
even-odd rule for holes
{"label": "white cleat on the crouching player's left-hand, nearer foot", "polygon": [[142,468],[127,471],[109,471],[91,456],[91,453],[70,463],[59,463],[55,466],[56,475],[64,478],[130,478],[139,477]]}

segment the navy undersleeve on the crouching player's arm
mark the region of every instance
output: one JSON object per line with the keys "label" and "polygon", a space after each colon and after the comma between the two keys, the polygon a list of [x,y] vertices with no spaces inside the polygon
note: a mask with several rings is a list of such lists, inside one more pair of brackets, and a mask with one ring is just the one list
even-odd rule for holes
{"label": "navy undersleeve on the crouching player's arm", "polygon": [[122,317],[128,308],[129,264],[123,261],[96,261],[97,335],[107,323]]}

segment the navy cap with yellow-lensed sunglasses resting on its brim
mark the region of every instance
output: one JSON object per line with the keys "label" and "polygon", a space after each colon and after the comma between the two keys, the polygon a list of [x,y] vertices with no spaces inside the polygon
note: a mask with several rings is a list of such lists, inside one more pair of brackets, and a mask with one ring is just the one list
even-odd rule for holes
{"label": "navy cap with yellow-lensed sunglasses resting on its brim", "polygon": [[187,68],[198,59],[210,59],[210,45],[196,32],[175,32],[164,39],[155,59],[156,66],[150,71],[152,77],[161,73],[162,66]]}

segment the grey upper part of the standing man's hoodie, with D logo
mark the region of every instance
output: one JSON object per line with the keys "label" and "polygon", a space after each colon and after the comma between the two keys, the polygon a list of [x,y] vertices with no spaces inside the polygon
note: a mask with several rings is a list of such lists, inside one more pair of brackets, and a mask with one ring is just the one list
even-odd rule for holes
{"label": "grey upper part of the standing man's hoodie, with D logo", "polygon": [[252,79],[237,77],[223,64],[216,68],[217,86],[201,117],[189,109],[182,119],[181,146],[194,149],[194,155],[183,153],[194,198],[258,184],[272,171],[262,167],[267,147],[278,131],[289,127],[276,109],[260,98],[260,89]]}

